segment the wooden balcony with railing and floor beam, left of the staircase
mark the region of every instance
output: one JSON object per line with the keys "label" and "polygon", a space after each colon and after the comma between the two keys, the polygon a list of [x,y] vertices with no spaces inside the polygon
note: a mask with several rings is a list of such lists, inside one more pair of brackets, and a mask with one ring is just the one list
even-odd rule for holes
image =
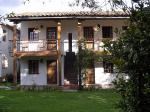
{"label": "wooden balcony with railing and floor beam, left of the staircase", "polygon": [[21,57],[57,57],[57,40],[17,41],[17,52]]}

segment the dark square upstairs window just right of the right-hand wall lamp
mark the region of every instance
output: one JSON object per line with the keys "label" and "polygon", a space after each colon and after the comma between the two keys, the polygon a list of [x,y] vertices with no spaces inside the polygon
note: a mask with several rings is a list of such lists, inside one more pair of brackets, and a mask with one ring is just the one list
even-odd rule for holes
{"label": "dark square upstairs window just right of the right-hand wall lamp", "polygon": [[102,27],[102,36],[103,38],[113,38],[112,26],[103,26]]}

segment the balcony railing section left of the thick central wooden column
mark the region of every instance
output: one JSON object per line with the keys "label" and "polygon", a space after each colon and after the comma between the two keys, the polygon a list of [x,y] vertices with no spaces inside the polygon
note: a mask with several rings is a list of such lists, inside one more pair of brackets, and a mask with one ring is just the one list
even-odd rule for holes
{"label": "balcony railing section left of the thick central wooden column", "polygon": [[[38,41],[17,41],[18,52],[57,50],[57,40],[38,40]],[[12,51],[12,40],[9,44],[9,51]]]}

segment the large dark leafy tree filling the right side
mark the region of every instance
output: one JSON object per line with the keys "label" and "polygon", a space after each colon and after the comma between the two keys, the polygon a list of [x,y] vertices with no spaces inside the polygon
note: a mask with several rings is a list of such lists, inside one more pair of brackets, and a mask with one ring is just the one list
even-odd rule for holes
{"label": "large dark leafy tree filling the right side", "polygon": [[145,3],[131,9],[129,27],[117,41],[105,42],[119,70],[115,85],[121,112],[150,112],[150,16]]}

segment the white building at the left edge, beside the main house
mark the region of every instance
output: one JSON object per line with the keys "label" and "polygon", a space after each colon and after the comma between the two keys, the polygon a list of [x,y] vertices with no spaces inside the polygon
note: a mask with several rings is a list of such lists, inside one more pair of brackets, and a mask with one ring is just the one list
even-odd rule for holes
{"label": "white building at the left edge, beside the main house", "polygon": [[12,57],[13,27],[7,24],[0,24],[0,77],[13,72]]}

